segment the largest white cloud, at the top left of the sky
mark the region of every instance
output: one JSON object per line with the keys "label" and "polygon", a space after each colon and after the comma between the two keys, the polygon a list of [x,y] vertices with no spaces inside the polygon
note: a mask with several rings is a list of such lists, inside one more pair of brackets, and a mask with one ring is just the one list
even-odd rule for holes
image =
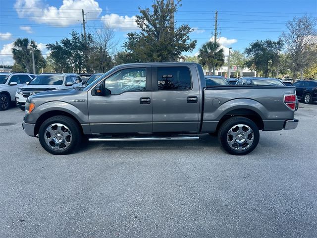
{"label": "largest white cloud, at the top left of the sky", "polygon": [[86,19],[97,18],[102,12],[96,0],[63,0],[58,8],[44,3],[44,0],[16,0],[14,8],[20,18],[27,17],[38,23],[67,26],[82,22],[82,11]]}

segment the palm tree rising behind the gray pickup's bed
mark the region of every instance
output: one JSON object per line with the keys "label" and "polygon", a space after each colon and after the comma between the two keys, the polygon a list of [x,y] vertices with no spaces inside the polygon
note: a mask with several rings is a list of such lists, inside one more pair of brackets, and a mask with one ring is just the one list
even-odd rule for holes
{"label": "palm tree rising behind the gray pickup's bed", "polygon": [[224,64],[223,48],[218,42],[209,41],[199,49],[198,59],[199,63],[207,67],[209,72],[211,72],[213,66],[218,68]]}

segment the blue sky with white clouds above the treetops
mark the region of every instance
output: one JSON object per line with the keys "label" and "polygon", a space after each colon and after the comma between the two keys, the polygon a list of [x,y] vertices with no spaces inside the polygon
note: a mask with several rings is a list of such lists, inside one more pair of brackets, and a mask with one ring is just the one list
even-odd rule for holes
{"label": "blue sky with white clouds above the treetops", "polygon": [[[176,1],[176,0],[175,0]],[[69,36],[71,30],[82,32],[81,9],[87,14],[87,31],[109,24],[119,42],[137,30],[138,6],[151,7],[152,0],[0,0],[0,64],[12,64],[12,42],[19,37],[35,40],[47,54],[45,44]],[[228,51],[243,51],[251,42],[277,40],[286,30],[286,22],[305,13],[317,17],[317,0],[183,0],[175,14],[177,25],[188,24],[195,31],[195,55],[209,41],[218,11],[219,42]],[[218,36],[219,37],[219,36]]]}

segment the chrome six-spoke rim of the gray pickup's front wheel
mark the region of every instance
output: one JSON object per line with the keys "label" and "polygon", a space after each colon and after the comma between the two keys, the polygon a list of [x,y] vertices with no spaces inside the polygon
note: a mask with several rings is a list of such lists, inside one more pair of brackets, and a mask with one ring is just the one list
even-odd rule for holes
{"label": "chrome six-spoke rim of the gray pickup's front wheel", "polygon": [[46,128],[44,139],[53,150],[64,150],[70,146],[72,134],[66,125],[53,123]]}

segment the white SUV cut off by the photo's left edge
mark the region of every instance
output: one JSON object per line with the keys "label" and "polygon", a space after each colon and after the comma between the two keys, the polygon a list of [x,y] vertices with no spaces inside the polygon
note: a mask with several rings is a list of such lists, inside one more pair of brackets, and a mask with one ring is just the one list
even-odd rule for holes
{"label": "white SUV cut off by the photo's left edge", "polygon": [[0,73],[0,111],[7,110],[14,102],[16,90],[34,77],[30,73]]}

